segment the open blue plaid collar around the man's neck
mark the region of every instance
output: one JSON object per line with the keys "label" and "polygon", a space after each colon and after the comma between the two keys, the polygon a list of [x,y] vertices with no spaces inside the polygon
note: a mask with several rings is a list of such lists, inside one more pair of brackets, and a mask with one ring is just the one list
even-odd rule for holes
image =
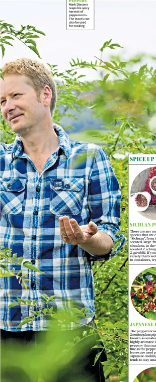
{"label": "open blue plaid collar around the man's neck", "polygon": [[[57,150],[61,148],[68,159],[70,155],[70,139],[62,127],[53,123],[53,128],[59,139]],[[23,143],[20,136],[17,134],[12,149],[12,161],[15,157],[21,157],[23,154],[25,154],[23,150]]]}

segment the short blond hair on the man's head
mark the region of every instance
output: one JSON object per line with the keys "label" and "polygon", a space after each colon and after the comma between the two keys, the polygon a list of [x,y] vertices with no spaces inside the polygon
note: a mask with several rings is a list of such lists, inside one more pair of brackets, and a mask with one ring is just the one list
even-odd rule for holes
{"label": "short blond hair on the man's head", "polygon": [[28,77],[37,93],[38,101],[40,100],[41,89],[43,89],[45,85],[48,85],[52,92],[50,112],[51,115],[53,115],[57,98],[56,84],[50,71],[43,64],[29,58],[20,58],[16,61],[7,62],[2,68],[2,74],[3,76],[7,74],[21,74]]}

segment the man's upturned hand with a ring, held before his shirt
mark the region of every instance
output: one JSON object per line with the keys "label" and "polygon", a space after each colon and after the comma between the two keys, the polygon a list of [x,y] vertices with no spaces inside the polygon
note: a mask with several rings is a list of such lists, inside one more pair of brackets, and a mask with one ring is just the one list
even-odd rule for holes
{"label": "man's upturned hand with a ring, held before his shirt", "polygon": [[61,238],[67,244],[80,246],[87,244],[92,236],[98,232],[98,226],[93,222],[79,226],[75,219],[69,219],[68,216],[63,216],[58,220]]}

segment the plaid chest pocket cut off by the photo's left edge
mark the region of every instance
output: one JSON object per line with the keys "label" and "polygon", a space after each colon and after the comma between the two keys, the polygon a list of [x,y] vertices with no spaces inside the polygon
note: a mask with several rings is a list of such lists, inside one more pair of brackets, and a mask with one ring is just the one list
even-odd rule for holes
{"label": "plaid chest pocket cut off by the photo's left edge", "polygon": [[1,179],[2,214],[17,215],[22,211],[26,179]]}

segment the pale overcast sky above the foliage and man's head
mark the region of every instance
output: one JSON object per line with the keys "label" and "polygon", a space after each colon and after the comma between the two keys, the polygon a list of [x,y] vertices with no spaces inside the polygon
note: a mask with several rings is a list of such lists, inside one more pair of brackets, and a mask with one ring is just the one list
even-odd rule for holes
{"label": "pale overcast sky above the foliage and man's head", "polygon": [[[85,61],[99,57],[99,49],[104,41],[112,38],[125,49],[124,57],[140,52],[156,55],[155,31],[156,1],[150,0],[95,0],[95,30],[66,30],[65,0],[2,0],[1,19],[13,24],[17,29],[22,25],[33,25],[45,32],[46,37],[36,39],[37,47],[44,63],[57,64],[59,70],[69,68],[71,58]],[[108,54],[115,51],[106,49]],[[3,64],[17,58],[38,59],[34,52],[20,42],[14,48],[6,45]],[[94,70],[88,70],[88,79],[97,76]]]}

